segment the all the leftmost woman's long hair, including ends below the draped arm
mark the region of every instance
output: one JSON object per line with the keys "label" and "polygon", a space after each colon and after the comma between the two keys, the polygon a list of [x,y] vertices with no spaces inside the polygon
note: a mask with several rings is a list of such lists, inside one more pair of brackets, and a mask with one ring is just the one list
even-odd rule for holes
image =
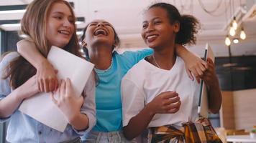
{"label": "all the leftmost woman's long hair, including ends below the draped arm", "polygon": [[[27,6],[21,24],[22,34],[29,36],[29,40],[35,42],[37,49],[43,56],[47,56],[50,51],[50,44],[46,39],[46,23],[48,13],[52,4],[63,3],[68,6],[71,14],[75,19],[75,15],[72,7],[67,1],[64,0],[34,0]],[[76,31],[76,25],[75,26]],[[79,51],[80,46],[78,44],[78,38],[76,32],[73,33],[68,44],[63,48],[76,56],[81,56]],[[8,70],[7,70],[8,69]],[[6,66],[4,79],[10,77],[10,86],[14,89],[26,82],[30,77],[36,74],[36,69],[22,56],[18,56],[12,62]]]}

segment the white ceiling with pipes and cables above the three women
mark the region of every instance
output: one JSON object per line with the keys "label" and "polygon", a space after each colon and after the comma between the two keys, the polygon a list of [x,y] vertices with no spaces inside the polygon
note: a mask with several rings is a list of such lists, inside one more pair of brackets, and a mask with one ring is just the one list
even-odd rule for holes
{"label": "white ceiling with pipes and cables above the three women", "polygon": [[[0,6],[29,4],[30,1],[32,0],[0,1]],[[86,19],[86,23],[78,24],[78,28],[83,28],[93,19],[105,19],[114,25],[120,36],[122,48],[136,49],[146,46],[140,36],[141,16],[143,10],[154,3],[155,0],[71,1],[74,3],[76,16],[82,16]],[[228,49],[224,44],[224,39],[227,35],[227,27],[235,14],[237,17],[240,16],[241,20],[238,20],[238,24],[243,25],[247,39],[240,40],[239,44],[231,44],[232,56],[256,55],[256,0],[232,0],[232,4],[230,4],[230,0],[169,0],[165,2],[175,5],[181,14],[193,14],[201,21],[202,26],[197,36],[197,44],[188,46],[191,51],[203,56],[204,46],[206,42],[209,42],[216,56],[228,56]],[[207,14],[201,5],[208,11],[218,9],[212,14]],[[242,9],[242,12],[240,9]],[[227,11],[227,14],[225,14],[225,11]],[[21,18],[22,14],[0,14],[0,20]],[[1,29],[17,30],[17,28],[6,29],[3,27]]]}

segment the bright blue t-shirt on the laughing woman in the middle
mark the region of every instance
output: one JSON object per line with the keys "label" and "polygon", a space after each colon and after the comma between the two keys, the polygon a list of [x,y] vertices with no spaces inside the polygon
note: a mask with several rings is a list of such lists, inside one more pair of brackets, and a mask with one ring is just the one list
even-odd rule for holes
{"label": "bright blue t-shirt on the laughing woman in the middle", "polygon": [[109,69],[96,69],[99,81],[96,87],[97,122],[94,131],[113,132],[122,129],[122,78],[134,64],[150,54],[152,49],[125,51],[123,54],[114,51]]}

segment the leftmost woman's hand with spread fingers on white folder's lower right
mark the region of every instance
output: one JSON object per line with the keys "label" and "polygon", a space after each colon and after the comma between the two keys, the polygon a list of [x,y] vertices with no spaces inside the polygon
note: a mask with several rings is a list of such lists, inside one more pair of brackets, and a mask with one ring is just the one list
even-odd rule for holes
{"label": "leftmost woman's hand with spread fingers on white folder's lower right", "polygon": [[60,87],[54,94],[51,94],[51,98],[52,102],[65,114],[69,122],[80,114],[83,96],[77,97],[74,94],[70,79],[61,80]]}

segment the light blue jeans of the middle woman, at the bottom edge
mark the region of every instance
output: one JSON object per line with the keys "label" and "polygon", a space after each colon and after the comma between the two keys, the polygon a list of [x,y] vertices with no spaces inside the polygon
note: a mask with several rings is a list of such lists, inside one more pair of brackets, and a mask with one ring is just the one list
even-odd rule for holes
{"label": "light blue jeans of the middle woman, at the bottom edge", "polygon": [[83,139],[86,143],[140,143],[136,139],[128,141],[122,131],[116,132],[95,132],[91,131]]}

